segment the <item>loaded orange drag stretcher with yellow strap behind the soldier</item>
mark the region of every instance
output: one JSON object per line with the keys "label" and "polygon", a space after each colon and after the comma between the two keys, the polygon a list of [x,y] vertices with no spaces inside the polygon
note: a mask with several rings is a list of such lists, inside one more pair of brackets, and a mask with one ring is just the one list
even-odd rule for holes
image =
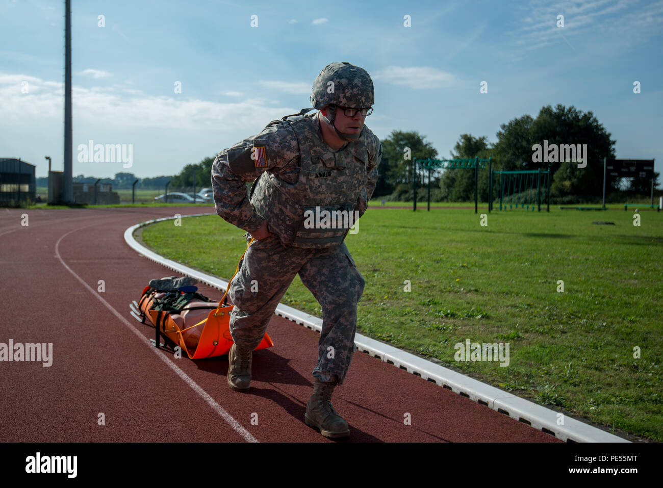
{"label": "loaded orange drag stretcher with yellow strap behind the soldier", "polygon": [[[253,239],[247,245],[247,250],[252,242]],[[246,251],[239,259],[239,263],[245,254]],[[235,274],[239,271],[239,263],[237,263]],[[235,278],[235,274],[233,274],[233,278]],[[146,286],[141,294],[141,300],[131,304],[131,315],[143,324],[147,319],[147,323],[154,326],[156,335],[151,341],[156,347],[162,345],[160,342],[161,336],[163,336],[164,339],[167,339],[164,341],[164,345],[170,342],[174,346],[181,347],[190,359],[204,359],[227,354],[233,345],[229,326],[230,312],[234,306],[227,304],[226,295],[233,278],[230,278],[219,302],[191,300],[182,308],[180,314],[152,310],[154,300],[161,298],[166,293]],[[265,334],[255,350],[272,347],[272,345],[274,343],[269,334]]]}

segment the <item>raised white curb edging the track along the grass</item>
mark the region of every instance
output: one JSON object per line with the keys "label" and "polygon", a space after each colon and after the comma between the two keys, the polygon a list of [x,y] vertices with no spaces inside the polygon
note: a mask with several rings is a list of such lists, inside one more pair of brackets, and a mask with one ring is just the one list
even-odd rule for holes
{"label": "raised white curb edging the track along the grass", "polygon": [[[215,212],[210,212],[206,214],[182,215],[182,217],[200,217],[202,215],[217,214]],[[174,218],[176,217],[164,217],[162,219],[149,220],[133,225],[125,231],[125,241],[129,247],[137,251],[140,255],[147,257],[147,259],[151,259],[177,273],[192,276],[192,278],[196,278],[198,281],[204,282],[213,288],[225,291],[225,288],[228,285],[227,281],[221,280],[217,276],[191,269],[190,267],[182,265],[182,263],[170,261],[170,259],[166,259],[153,251],[150,251],[146,247],[143,247],[143,245],[139,244],[133,238],[134,231],[139,227]],[[292,322],[296,322],[311,330],[317,332],[322,330],[322,320],[320,318],[314,317],[306,312],[301,312],[300,310],[296,310],[287,305],[278,304],[275,313],[276,315],[292,320]],[[370,354],[373,357],[381,359],[381,361],[385,361],[400,369],[404,369],[408,371],[408,373],[412,373],[426,381],[436,383],[436,385],[440,385],[441,387],[449,389],[459,395],[466,396],[475,402],[484,404],[493,410],[497,410],[498,412],[510,416],[514,420],[529,424],[537,430],[547,432],[565,442],[629,442],[619,436],[605,432],[605,430],[587,425],[584,422],[580,422],[579,420],[575,420],[574,418],[570,418],[559,412],[555,412],[554,410],[550,410],[549,408],[540,406],[534,402],[525,400],[524,398],[520,398],[519,396],[512,395],[507,391],[491,387],[490,385],[481,383],[481,381],[477,381],[473,378],[462,375],[461,373],[457,373],[456,371],[452,371],[451,369],[437,365],[426,359],[422,359],[414,354],[401,351],[397,347],[376,341],[370,337],[356,334],[355,346],[357,347],[357,350],[362,351],[363,353]],[[563,422],[563,424],[558,425],[558,422]]]}

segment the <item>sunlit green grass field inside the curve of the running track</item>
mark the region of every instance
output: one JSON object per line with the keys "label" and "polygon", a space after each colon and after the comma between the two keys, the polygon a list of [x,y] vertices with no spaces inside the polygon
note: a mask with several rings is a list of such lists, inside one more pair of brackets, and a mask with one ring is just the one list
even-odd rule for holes
{"label": "sunlit green grass field inside the curve of the running track", "polygon": [[[550,214],[492,212],[481,226],[463,205],[468,210],[374,209],[362,217],[359,233],[345,240],[366,280],[358,332],[573,416],[663,441],[663,213],[641,211],[636,227],[633,211],[551,206]],[[246,246],[243,231],[215,215],[150,225],[143,240],[226,279]],[[322,313],[298,276],[282,302]],[[509,343],[509,367],[455,361],[454,345],[466,339]]]}

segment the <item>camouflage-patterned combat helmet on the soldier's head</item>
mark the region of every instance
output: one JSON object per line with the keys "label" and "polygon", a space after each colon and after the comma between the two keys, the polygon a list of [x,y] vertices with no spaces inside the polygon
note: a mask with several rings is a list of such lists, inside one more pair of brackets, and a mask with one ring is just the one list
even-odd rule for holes
{"label": "camouflage-patterned combat helmet on the soldier's head", "polygon": [[326,105],[362,109],[371,107],[374,98],[373,80],[366,70],[349,62],[331,63],[313,82],[311,104],[316,109]]}

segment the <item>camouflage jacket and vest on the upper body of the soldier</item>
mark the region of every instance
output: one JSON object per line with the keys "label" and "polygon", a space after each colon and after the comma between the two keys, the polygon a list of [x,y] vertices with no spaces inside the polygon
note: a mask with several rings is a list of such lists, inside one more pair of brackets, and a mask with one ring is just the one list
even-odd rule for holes
{"label": "camouflage jacket and vest on the upper body of the soldier", "polygon": [[[333,247],[345,229],[305,229],[306,210],[357,211],[375,190],[382,146],[364,126],[357,141],[333,151],[316,113],[288,115],[219,153],[211,168],[217,214],[249,233],[267,220],[285,247]],[[245,182],[252,182],[251,199]]]}

